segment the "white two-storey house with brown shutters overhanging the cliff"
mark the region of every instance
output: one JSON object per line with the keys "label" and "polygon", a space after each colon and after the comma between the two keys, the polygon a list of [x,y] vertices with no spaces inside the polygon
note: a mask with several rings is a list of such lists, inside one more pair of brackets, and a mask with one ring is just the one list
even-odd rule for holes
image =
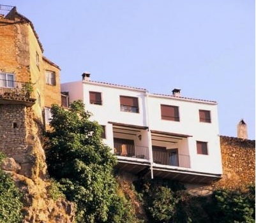
{"label": "white two-storey house with brown shutters overhanging the cliff", "polygon": [[103,126],[103,141],[120,170],[151,178],[208,183],[222,176],[215,101],[151,94],[146,89],[90,80],[63,83],[70,101],[82,99]]}

